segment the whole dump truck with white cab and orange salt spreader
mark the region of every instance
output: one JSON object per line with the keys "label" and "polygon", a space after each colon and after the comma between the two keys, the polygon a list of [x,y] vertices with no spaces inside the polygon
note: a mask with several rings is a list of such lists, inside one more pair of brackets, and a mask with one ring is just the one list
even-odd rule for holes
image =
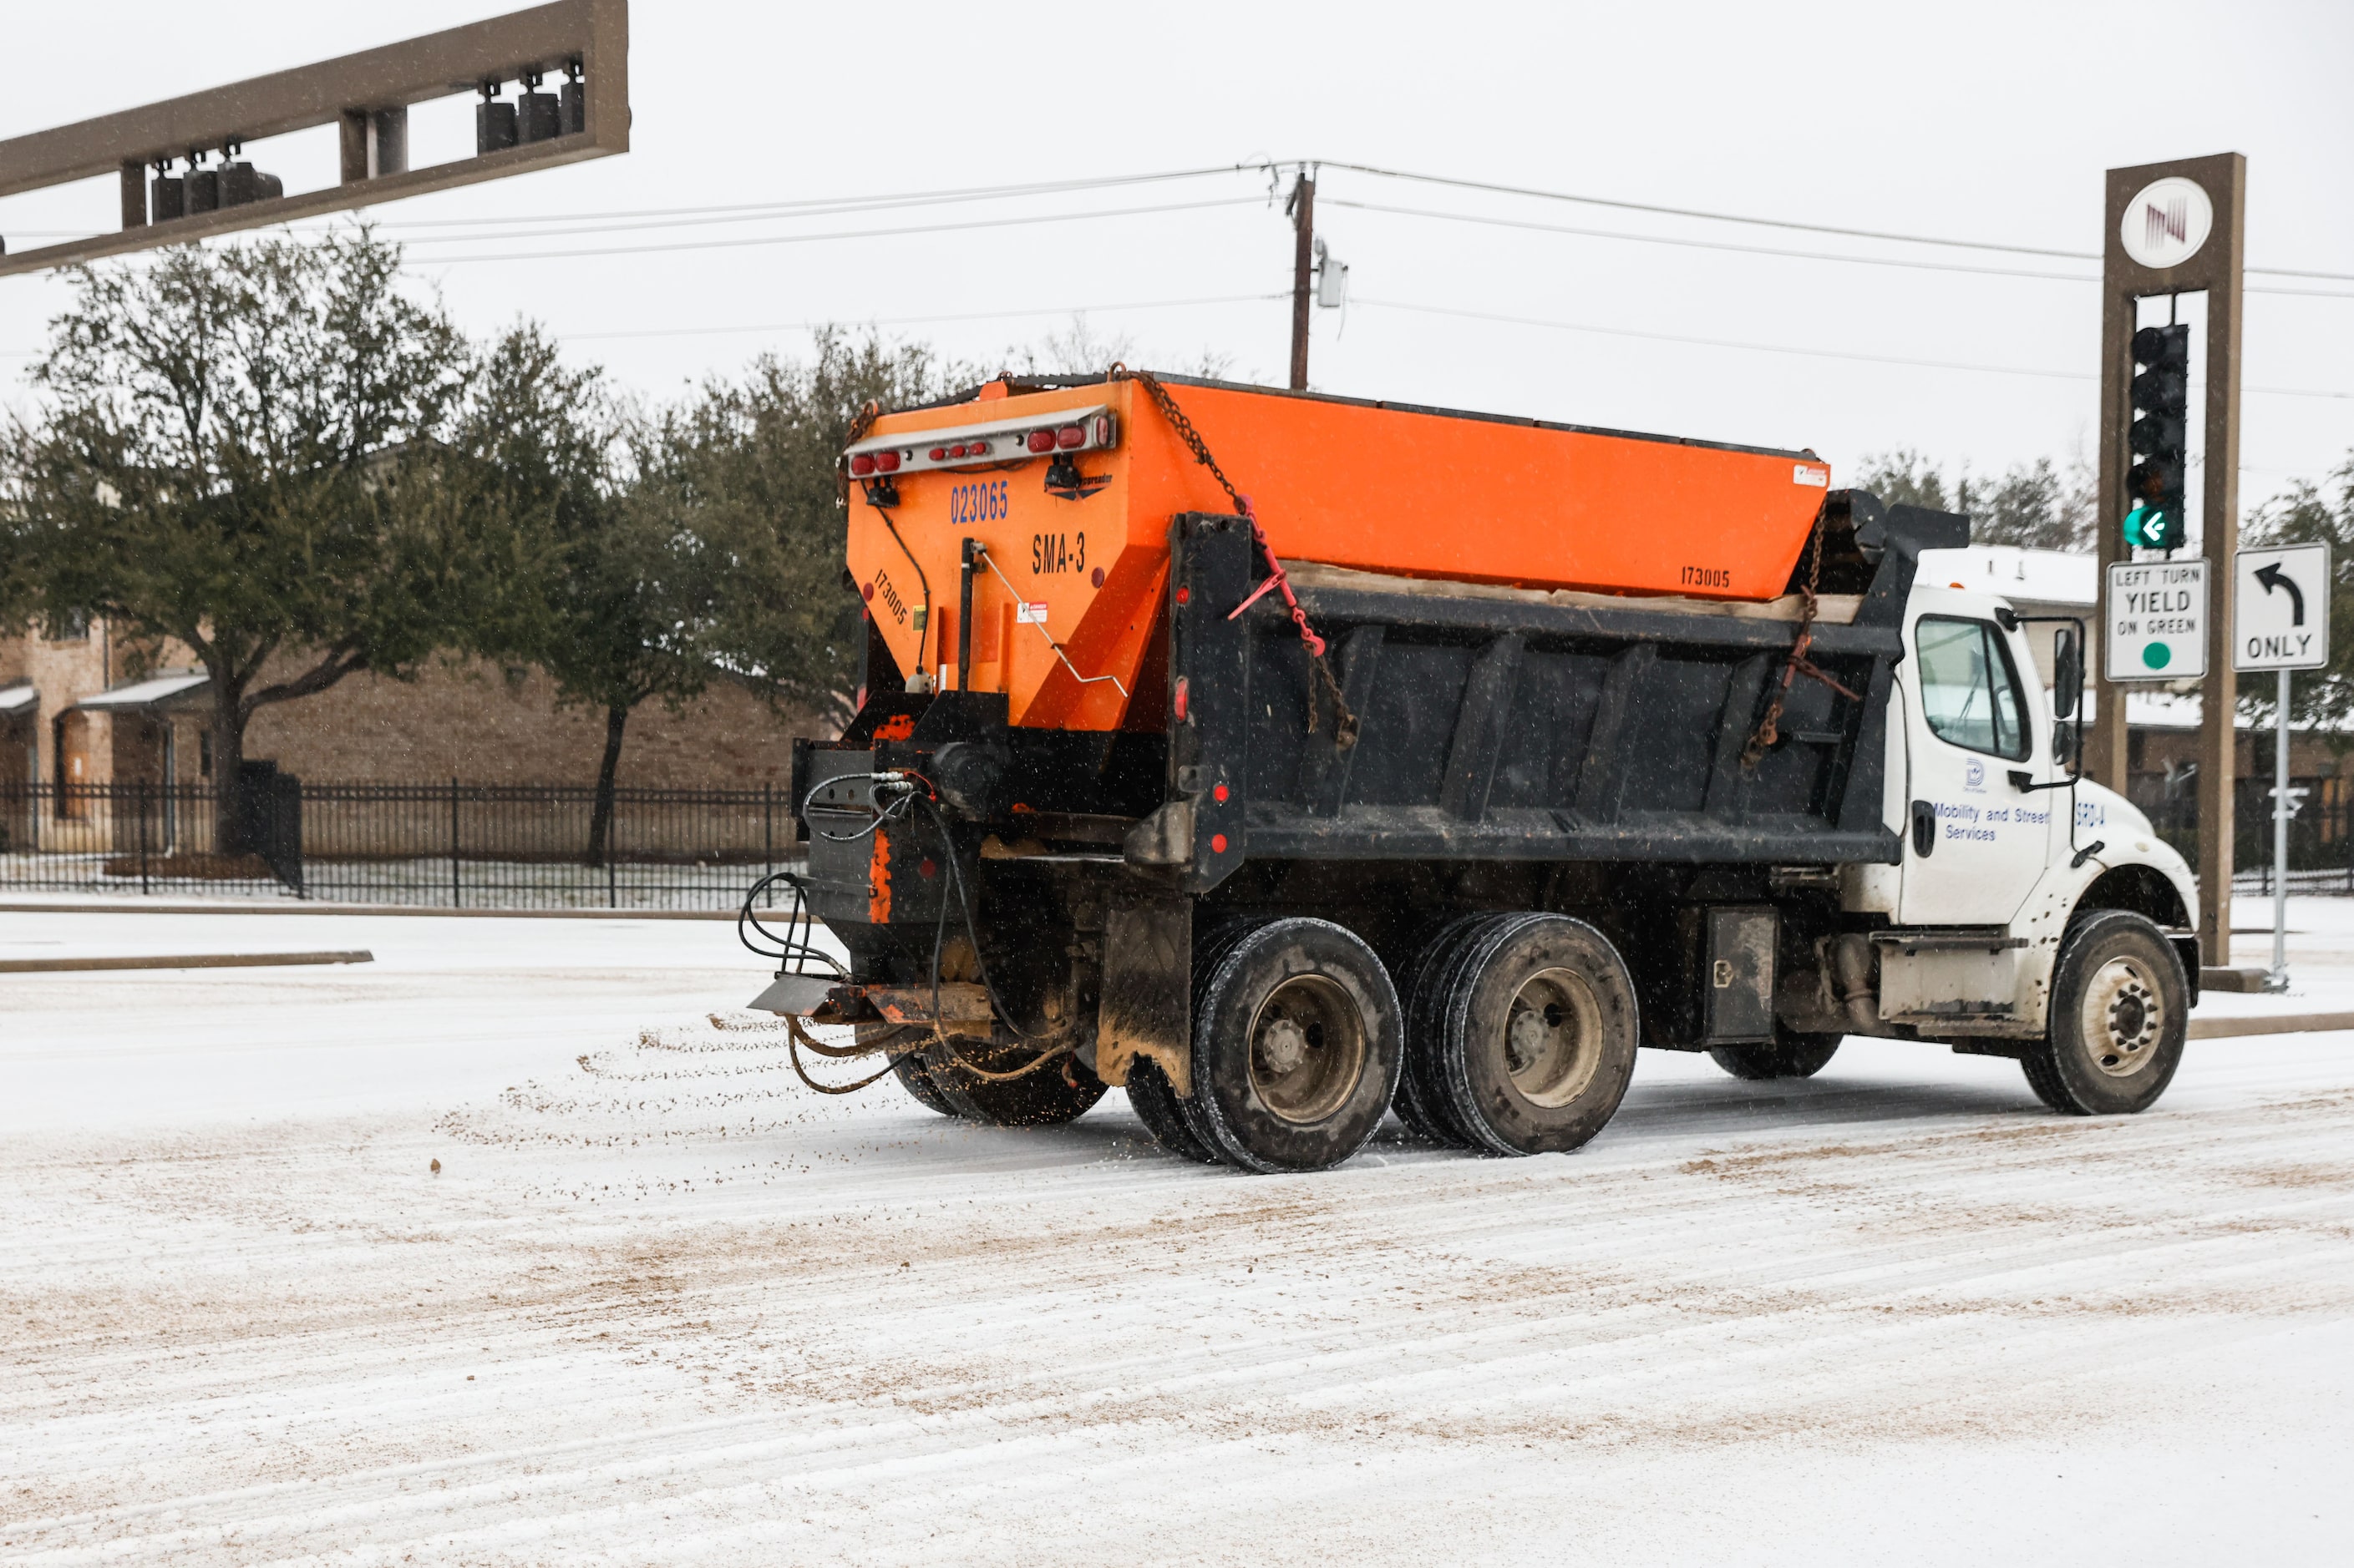
{"label": "whole dump truck with white cab and orange salt spreader", "polygon": [[2081,777],[2083,626],[1813,452],[1113,367],[871,412],[843,490],[857,718],[753,1005],[932,1111],[1121,1085],[1271,1172],[1391,1111],[1575,1149],[1638,1048],[2067,1114],[2182,1059],[2196,888]]}

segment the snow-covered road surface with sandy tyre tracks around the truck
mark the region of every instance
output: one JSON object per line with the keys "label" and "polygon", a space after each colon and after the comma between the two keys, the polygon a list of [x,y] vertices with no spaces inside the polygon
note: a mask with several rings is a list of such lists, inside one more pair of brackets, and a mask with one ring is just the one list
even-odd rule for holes
{"label": "snow-covered road surface with sandy tyre tracks around the truck", "polygon": [[[2290,916],[2305,994],[2203,1015],[2354,1005],[2354,902]],[[1121,1095],[1052,1132],[810,1095],[720,923],[0,913],[0,956],[315,946],[379,963],[0,979],[0,1561],[2354,1530],[2354,1034],[2194,1043],[2130,1121],[1919,1045],[1645,1052],[1582,1154],[1271,1180]]]}

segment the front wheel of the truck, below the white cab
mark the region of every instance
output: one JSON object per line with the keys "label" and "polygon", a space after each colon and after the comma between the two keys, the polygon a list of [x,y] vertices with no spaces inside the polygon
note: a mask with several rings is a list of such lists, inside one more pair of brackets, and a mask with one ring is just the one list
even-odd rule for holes
{"label": "front wheel of the truck, below the white cab", "polygon": [[2173,942],[2147,916],[2102,909],[2060,944],[2050,1019],[2020,1067],[2064,1116],[2123,1116],[2166,1092],[2187,1036],[2189,982]]}

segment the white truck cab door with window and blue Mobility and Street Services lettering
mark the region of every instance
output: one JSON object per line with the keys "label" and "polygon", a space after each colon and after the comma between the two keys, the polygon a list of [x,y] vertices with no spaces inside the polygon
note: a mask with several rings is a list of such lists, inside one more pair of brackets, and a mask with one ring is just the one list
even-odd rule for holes
{"label": "white truck cab door with window and blue Mobility and Street Services lettering", "polygon": [[1904,746],[1911,798],[1904,822],[1900,925],[2008,925],[2050,855],[2055,800],[2024,793],[2010,772],[2046,777],[2010,638],[1977,614],[1921,614],[1911,629],[1911,702]]}

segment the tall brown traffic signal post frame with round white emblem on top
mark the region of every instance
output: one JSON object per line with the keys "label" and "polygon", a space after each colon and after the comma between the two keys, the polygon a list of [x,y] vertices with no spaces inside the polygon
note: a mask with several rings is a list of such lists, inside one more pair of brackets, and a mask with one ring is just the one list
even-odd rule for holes
{"label": "tall brown traffic signal post frame with round white emblem on top", "polygon": [[[2185,210],[2173,198],[2149,200],[2159,181],[2194,184],[2213,210],[2213,224],[2196,247],[2182,252]],[[2239,551],[2239,346],[2241,346],[2241,245],[2246,238],[2248,160],[2239,153],[2182,158],[2133,170],[2109,170],[2102,202],[2102,306],[2100,306],[2100,565],[2133,560],[2126,516],[2133,471],[2133,332],[2137,304],[2161,294],[2206,294],[2206,473],[2199,485],[2199,553],[2208,582],[2229,582]],[[2140,245],[2128,245],[2130,233]],[[2168,247],[2168,238],[2173,245]],[[2137,261],[2130,252],[2170,257]],[[2196,417],[2196,414],[2194,414]],[[2180,537],[2180,532],[2177,532]],[[2102,589],[2107,591],[2107,589]],[[2130,753],[2126,692],[2102,666],[2086,737],[2086,772],[2126,793]],[[2232,671],[2232,605],[2215,593],[2208,607],[2206,683],[2199,702],[2199,954],[2208,965],[2232,961],[2232,798],[2239,746],[2234,711],[2239,678]]]}

